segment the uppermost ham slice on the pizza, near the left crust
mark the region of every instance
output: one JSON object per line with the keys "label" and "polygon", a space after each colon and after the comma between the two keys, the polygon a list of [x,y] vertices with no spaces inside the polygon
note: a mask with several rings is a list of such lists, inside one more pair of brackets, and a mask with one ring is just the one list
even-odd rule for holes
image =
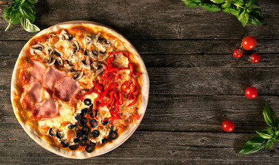
{"label": "uppermost ham slice on the pizza, near the left crust", "polygon": [[45,66],[39,61],[30,61],[21,73],[23,83],[41,82],[41,76],[45,73],[45,70]]}

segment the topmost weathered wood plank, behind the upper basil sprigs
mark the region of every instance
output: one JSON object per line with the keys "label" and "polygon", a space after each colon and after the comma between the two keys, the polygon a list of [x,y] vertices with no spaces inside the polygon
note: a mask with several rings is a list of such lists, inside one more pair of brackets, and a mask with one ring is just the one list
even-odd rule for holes
{"label": "topmost weathered wood plank, behind the upper basil sprigs", "polygon": [[[231,14],[208,12],[203,8],[189,8],[182,1],[147,0],[122,1],[39,1],[37,18],[39,28],[70,20],[90,20],[115,28],[128,39],[241,39],[247,34],[257,39],[279,39],[277,1],[259,0],[267,25],[242,27]],[[3,10],[6,5],[1,5]],[[12,25],[0,19],[0,40],[30,39],[21,25]]]}

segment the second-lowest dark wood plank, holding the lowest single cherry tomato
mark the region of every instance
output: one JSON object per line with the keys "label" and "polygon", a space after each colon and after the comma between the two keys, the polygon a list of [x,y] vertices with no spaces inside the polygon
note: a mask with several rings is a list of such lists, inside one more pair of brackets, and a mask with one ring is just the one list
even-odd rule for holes
{"label": "second-lowest dark wood plank, holding the lowest single cherry tomato", "polygon": [[[150,95],[140,131],[204,131],[223,132],[224,120],[236,124],[236,133],[254,133],[266,129],[262,118],[265,100],[279,115],[278,96],[258,96],[249,100],[245,96],[161,96]],[[9,96],[0,99],[0,127],[19,129]]]}

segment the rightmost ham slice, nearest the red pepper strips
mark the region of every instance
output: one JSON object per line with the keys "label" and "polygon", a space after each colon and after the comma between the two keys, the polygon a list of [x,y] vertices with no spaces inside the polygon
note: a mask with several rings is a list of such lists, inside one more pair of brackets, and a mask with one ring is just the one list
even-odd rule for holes
{"label": "rightmost ham slice, nearest the red pepper strips", "polygon": [[53,98],[69,102],[79,92],[81,87],[72,76],[60,78],[54,85]]}

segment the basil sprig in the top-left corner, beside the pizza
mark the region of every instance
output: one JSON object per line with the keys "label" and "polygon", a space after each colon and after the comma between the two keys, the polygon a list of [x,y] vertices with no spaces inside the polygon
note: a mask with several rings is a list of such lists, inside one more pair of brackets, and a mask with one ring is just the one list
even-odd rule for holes
{"label": "basil sprig in the top-left corner, beside the pizza", "polygon": [[8,5],[3,11],[3,18],[9,23],[5,32],[12,24],[21,23],[22,27],[28,32],[38,32],[37,25],[32,24],[35,21],[34,3],[38,0],[12,0],[14,3]]}

